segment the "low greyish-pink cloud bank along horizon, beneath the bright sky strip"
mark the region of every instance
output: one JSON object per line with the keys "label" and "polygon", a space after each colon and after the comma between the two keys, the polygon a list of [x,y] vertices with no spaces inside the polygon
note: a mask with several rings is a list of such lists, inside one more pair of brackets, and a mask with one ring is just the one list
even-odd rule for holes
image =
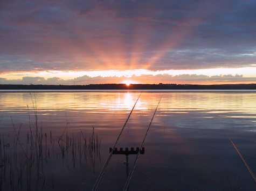
{"label": "low greyish-pink cloud bank along horizon, beneath the bright sky strip", "polygon": [[7,80],[0,78],[0,84],[43,84],[43,85],[88,85],[88,84],[115,84],[121,83],[123,80],[134,80],[144,84],[239,84],[239,83],[255,83],[256,78],[243,77],[243,75],[219,75],[219,76],[206,76],[206,75],[141,75],[132,77],[89,77],[81,76],[74,79],[63,80],[57,77],[42,78],[42,77],[23,77],[19,80]]}

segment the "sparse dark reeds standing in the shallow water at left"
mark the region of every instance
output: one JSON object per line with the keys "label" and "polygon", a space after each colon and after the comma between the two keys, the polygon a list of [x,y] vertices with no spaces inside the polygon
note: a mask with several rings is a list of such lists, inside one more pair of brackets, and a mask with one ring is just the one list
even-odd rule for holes
{"label": "sparse dark reeds standing in the shallow water at left", "polygon": [[[22,133],[23,124],[17,128],[12,122],[14,135],[0,134],[0,191],[44,190],[45,170],[47,164],[54,160],[60,159],[68,168],[72,164],[72,168],[80,166],[80,169],[82,161],[87,163],[89,160],[94,169],[96,158],[100,159],[101,139],[94,133],[94,127],[88,136],[82,130],[79,135],[70,135],[67,122],[60,137],[52,136],[52,131],[45,133],[43,124],[38,123],[35,98],[31,98],[32,116],[27,106],[29,131]],[[51,181],[54,189],[54,174]]]}

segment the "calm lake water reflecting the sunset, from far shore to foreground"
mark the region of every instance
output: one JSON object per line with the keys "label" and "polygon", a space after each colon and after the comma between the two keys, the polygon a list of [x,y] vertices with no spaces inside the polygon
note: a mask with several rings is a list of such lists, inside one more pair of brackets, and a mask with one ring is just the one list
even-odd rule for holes
{"label": "calm lake water reflecting the sunset, from far shore to foreground", "polygon": [[[1,91],[3,190],[27,190],[27,185],[31,190],[91,190],[140,93]],[[256,175],[255,91],[143,91],[117,148],[141,145],[161,97],[129,190],[256,189],[244,163]],[[36,162],[30,161],[32,174],[27,175],[27,158],[20,153],[28,153],[27,136],[36,122],[46,148],[40,165],[33,167]],[[72,155],[74,150],[79,153],[81,132],[88,144],[93,128],[98,144],[101,140],[98,150],[87,152],[86,157]],[[58,142],[65,141],[65,136],[75,142],[75,149],[70,146],[62,155]],[[11,164],[13,157],[20,165]],[[134,159],[129,155],[130,168]],[[124,160],[124,155],[113,155],[98,190],[123,189]]]}

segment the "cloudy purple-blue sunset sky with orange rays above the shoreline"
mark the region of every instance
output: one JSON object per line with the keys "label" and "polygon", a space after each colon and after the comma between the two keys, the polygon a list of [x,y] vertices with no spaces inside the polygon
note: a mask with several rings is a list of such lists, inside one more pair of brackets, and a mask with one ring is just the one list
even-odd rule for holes
{"label": "cloudy purple-blue sunset sky with orange rays above the shoreline", "polygon": [[2,0],[0,84],[256,83],[255,10],[255,0]]}

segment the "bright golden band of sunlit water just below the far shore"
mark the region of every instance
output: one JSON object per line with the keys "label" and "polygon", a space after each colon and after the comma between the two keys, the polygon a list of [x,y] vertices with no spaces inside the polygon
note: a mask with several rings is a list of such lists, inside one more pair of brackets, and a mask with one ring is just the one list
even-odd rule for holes
{"label": "bright golden band of sunlit water just below the far shore", "polygon": [[[35,92],[39,109],[75,111],[101,109],[105,111],[127,110],[133,107],[140,92]],[[136,105],[139,111],[154,109],[163,94],[160,110],[176,111],[232,111],[255,113],[254,92],[143,92]],[[26,111],[31,106],[31,95],[24,93],[0,93],[1,112]],[[163,109],[162,109],[163,108]]]}

